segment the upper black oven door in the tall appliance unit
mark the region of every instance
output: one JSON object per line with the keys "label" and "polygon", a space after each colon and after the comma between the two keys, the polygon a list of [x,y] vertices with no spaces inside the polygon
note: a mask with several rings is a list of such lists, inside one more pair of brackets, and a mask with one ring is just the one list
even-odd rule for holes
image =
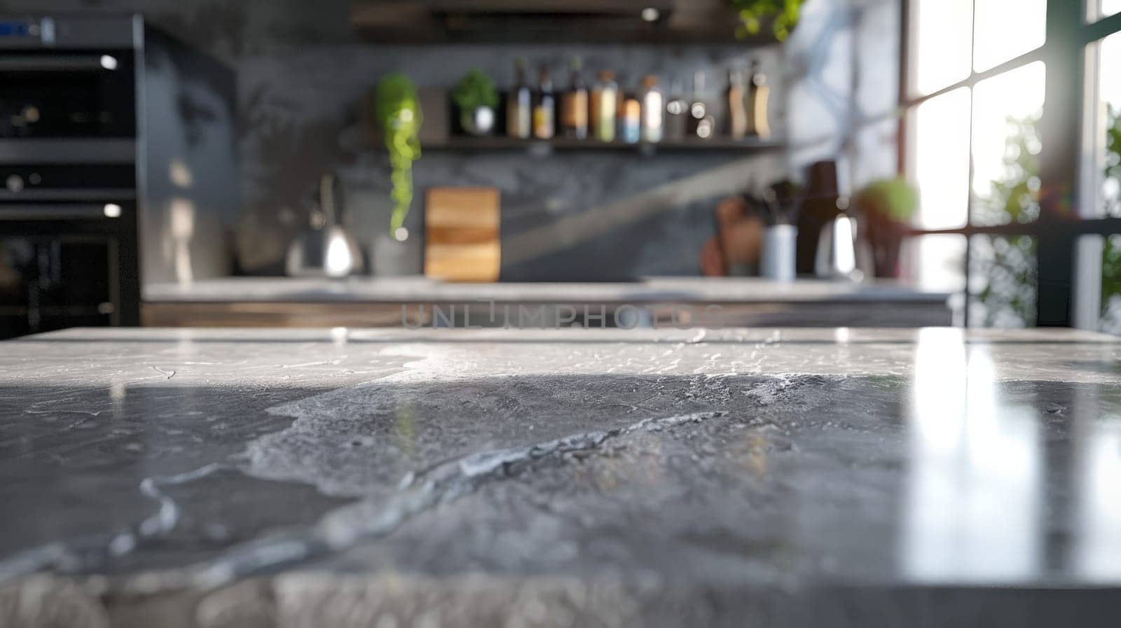
{"label": "upper black oven door in the tall appliance unit", "polygon": [[136,135],[133,53],[3,50],[0,138]]}

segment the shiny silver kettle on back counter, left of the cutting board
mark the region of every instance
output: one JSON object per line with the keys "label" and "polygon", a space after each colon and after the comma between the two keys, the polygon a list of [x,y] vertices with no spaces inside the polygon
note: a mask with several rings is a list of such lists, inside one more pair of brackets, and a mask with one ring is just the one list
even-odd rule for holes
{"label": "shiny silver kettle on back counter, left of the cutting board", "polygon": [[319,177],[322,224],[311,224],[288,246],[285,270],[290,276],[341,278],[362,270],[362,250],[342,227],[342,194],[333,174]]}

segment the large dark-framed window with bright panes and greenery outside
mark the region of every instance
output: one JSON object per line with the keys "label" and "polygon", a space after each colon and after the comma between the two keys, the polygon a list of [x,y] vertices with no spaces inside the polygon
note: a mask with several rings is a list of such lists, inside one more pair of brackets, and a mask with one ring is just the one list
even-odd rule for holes
{"label": "large dark-framed window with bright panes and greenery outside", "polygon": [[970,326],[1121,332],[1121,0],[905,2],[915,278]]}

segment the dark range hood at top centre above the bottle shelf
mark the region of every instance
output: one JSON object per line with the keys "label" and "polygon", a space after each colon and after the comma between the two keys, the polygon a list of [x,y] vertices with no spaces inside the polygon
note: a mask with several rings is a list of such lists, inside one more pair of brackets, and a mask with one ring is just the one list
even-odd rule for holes
{"label": "dark range hood at top centre above the bottle shelf", "polygon": [[720,43],[729,0],[352,0],[370,43]]}

